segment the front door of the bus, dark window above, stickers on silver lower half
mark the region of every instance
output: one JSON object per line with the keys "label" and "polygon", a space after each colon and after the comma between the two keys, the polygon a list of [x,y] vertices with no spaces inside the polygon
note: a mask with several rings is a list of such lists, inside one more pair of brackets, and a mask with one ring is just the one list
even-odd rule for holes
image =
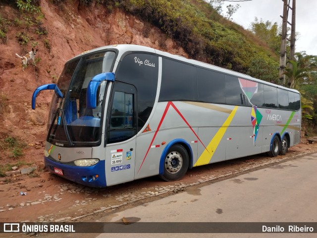
{"label": "front door of the bus, dark window above, stickers on silver lower half", "polygon": [[134,180],[136,148],[136,89],[115,82],[106,135],[106,185]]}

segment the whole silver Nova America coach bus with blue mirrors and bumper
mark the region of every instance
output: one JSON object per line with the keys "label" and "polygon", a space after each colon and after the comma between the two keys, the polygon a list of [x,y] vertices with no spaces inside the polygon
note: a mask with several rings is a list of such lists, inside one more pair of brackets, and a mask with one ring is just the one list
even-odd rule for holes
{"label": "whole silver Nova America coach bus with blue mirrors and bumper", "polygon": [[84,52],[65,63],[48,119],[45,165],[90,187],[268,152],[300,142],[296,90],[136,45]]}

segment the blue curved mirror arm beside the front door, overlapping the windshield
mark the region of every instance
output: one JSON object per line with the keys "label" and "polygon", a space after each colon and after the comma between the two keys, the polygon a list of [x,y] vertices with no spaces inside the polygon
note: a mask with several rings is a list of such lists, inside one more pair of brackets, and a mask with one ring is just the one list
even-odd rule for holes
{"label": "blue curved mirror arm beside the front door, overlapping the windshield", "polygon": [[96,75],[88,84],[86,95],[87,108],[95,109],[97,106],[97,90],[101,82],[111,81],[115,79],[114,73],[107,72]]}

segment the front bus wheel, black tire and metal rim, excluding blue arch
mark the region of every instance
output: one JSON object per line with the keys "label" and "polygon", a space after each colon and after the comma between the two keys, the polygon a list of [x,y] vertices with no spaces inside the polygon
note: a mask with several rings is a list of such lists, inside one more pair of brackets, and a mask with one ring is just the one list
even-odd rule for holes
{"label": "front bus wheel, black tire and metal rim, excluding blue arch", "polygon": [[180,144],[172,145],[164,159],[164,173],[160,177],[165,181],[176,181],[184,177],[189,166],[189,156]]}

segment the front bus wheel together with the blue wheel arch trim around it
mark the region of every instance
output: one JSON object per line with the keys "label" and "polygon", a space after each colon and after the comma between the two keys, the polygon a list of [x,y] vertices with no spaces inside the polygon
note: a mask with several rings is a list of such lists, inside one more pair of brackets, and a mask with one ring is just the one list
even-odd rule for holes
{"label": "front bus wheel together with the blue wheel arch trim around it", "polygon": [[160,158],[159,176],[165,181],[180,180],[186,174],[192,153],[186,143],[170,142]]}

